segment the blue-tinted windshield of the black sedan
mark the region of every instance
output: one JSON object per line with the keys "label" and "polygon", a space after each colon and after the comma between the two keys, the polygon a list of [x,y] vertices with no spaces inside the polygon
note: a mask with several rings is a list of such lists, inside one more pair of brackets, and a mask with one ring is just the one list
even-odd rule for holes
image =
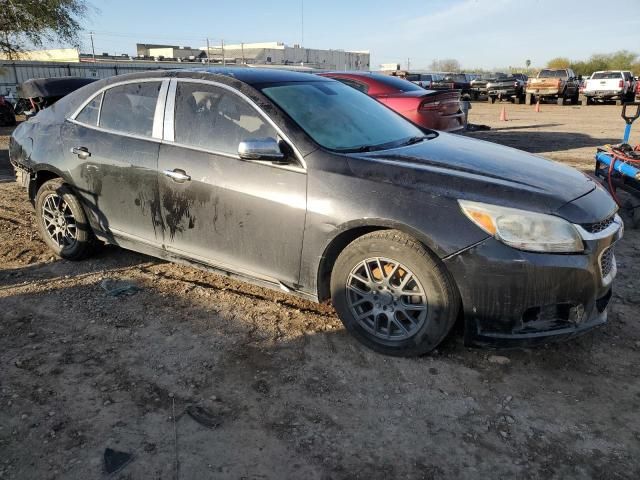
{"label": "blue-tinted windshield of the black sedan", "polygon": [[340,82],[269,85],[262,92],[313,140],[331,150],[383,150],[425,137],[401,116]]}

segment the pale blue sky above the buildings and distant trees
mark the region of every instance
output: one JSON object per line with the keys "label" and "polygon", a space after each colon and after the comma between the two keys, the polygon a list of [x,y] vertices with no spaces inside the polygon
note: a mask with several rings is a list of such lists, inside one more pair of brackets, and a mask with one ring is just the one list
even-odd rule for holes
{"label": "pale blue sky above the buildings and distant trees", "polygon": [[[627,49],[640,53],[640,0],[89,0],[96,53],[136,43],[201,47],[279,41],[369,50],[371,69],[455,58],[464,68],[544,66]],[[598,13],[601,12],[601,13]],[[608,20],[598,22],[599,17]],[[303,29],[304,19],[304,29]],[[304,37],[303,37],[304,30]],[[84,33],[83,52],[90,51]]]}

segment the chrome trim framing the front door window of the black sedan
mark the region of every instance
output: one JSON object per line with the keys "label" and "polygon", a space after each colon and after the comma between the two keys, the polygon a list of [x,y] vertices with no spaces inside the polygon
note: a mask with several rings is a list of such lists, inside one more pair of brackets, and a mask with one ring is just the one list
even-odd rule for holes
{"label": "chrome trim framing the front door window of the black sedan", "polygon": [[[175,96],[176,96],[176,90],[177,90],[177,86],[178,86],[178,82],[183,82],[183,83],[198,83],[198,84],[203,84],[203,85],[212,85],[214,87],[219,87],[222,88],[224,90],[227,90],[235,95],[237,95],[238,97],[240,97],[242,100],[244,100],[245,102],[247,102],[256,112],[258,112],[258,114],[269,124],[271,125],[274,130],[277,132],[278,136],[280,136],[280,138],[282,138],[282,140],[284,140],[285,142],[287,142],[287,144],[291,147],[291,149],[293,150],[298,163],[300,164],[299,167],[295,167],[295,166],[291,166],[291,165],[277,165],[277,164],[273,164],[273,163],[268,163],[268,162],[261,162],[261,161],[255,161],[255,160],[242,160],[238,155],[233,155],[233,154],[229,154],[229,153],[224,153],[224,152],[216,152],[214,150],[208,150],[202,147],[196,147],[196,146],[191,146],[191,145],[185,145],[179,142],[175,142],[175,131],[174,131],[174,118],[175,118]],[[175,78],[172,79],[172,85],[169,87],[169,97],[167,98],[167,110],[164,116],[164,121],[165,121],[165,131],[164,131],[164,141],[167,144],[170,145],[176,145],[176,146],[180,146],[180,147],[184,147],[184,148],[189,148],[192,150],[198,150],[198,151],[202,151],[202,152],[206,152],[206,153],[212,153],[214,155],[222,155],[225,157],[229,157],[229,158],[235,158],[241,161],[247,161],[247,162],[251,162],[251,163],[258,163],[261,165],[269,165],[272,167],[276,167],[276,168],[283,168],[285,170],[292,170],[292,171],[297,171],[297,172],[306,172],[307,171],[307,164],[304,161],[304,157],[302,156],[302,154],[300,153],[300,151],[296,148],[295,144],[291,141],[291,139],[282,131],[282,129],[275,124],[275,122],[273,120],[271,120],[271,118],[264,113],[264,111],[248,96],[246,96],[244,93],[240,92],[239,90],[230,87],[229,85],[225,85],[224,83],[220,83],[220,82],[216,82],[215,80],[202,80],[202,79],[198,79],[198,78]],[[167,131],[167,123],[170,123],[170,130]],[[171,135],[168,135],[168,133],[170,133]]]}

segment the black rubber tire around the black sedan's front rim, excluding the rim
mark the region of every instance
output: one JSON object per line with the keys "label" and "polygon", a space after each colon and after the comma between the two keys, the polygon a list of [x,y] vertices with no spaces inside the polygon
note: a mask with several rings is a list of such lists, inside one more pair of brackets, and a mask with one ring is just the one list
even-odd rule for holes
{"label": "black rubber tire around the black sedan's front rim, excluding the rim", "polygon": [[[365,263],[369,264],[368,262],[375,262],[372,259],[379,259],[382,262],[387,261],[389,263],[384,264],[384,266],[381,263],[377,263],[380,266],[377,269],[376,267],[371,269],[361,266]],[[397,265],[397,270],[395,270],[397,273],[389,273],[387,267],[393,265],[394,262]],[[369,277],[374,285],[377,285],[378,281],[380,281],[379,285],[381,286],[377,288],[382,292],[371,288],[365,292],[367,298],[370,298],[371,301],[363,301],[362,298],[364,297],[361,296],[359,303],[362,304],[364,302],[364,305],[370,306],[369,311],[374,312],[374,301],[379,301],[383,304],[386,302],[391,312],[382,313],[380,308],[386,310],[387,307],[380,307],[380,303],[378,303],[375,306],[378,307],[379,313],[371,314],[373,318],[367,317],[361,321],[356,318],[352,311],[352,309],[356,308],[352,299],[359,294],[354,293],[353,289],[349,288],[349,285],[350,282],[354,282],[354,278],[357,284],[358,279],[355,272],[358,271],[358,268],[365,268],[374,277],[378,275],[375,273],[376,271],[384,271],[389,275],[384,278],[383,274],[383,277],[377,280]],[[402,270],[403,268],[406,270]],[[418,325],[411,324],[408,327],[410,330],[405,327],[400,329],[400,325],[395,325],[395,323],[400,323],[397,321],[398,319],[403,320],[404,315],[401,315],[400,310],[402,305],[407,305],[407,303],[402,300],[398,300],[396,303],[394,294],[389,292],[386,293],[387,297],[384,297],[385,299],[378,300],[377,296],[385,295],[383,288],[389,290],[386,287],[382,287],[384,285],[383,282],[388,281],[387,285],[392,285],[393,278],[395,278],[394,275],[400,275],[401,272],[404,272],[404,275],[408,275],[408,278],[413,275],[415,279],[415,287],[413,288],[416,291],[421,289],[426,305],[424,313],[419,314],[422,323]],[[369,273],[367,273],[367,276],[369,276]],[[403,279],[404,277],[401,277],[400,281]],[[413,280],[409,280],[406,285],[411,285],[412,282]],[[358,286],[361,290],[367,288],[364,283]],[[403,287],[400,286],[399,288],[402,289]],[[404,288],[407,287],[405,286]],[[413,298],[415,297],[409,296],[410,302],[413,301]],[[458,290],[440,260],[420,242],[397,230],[376,231],[364,235],[354,240],[340,253],[331,274],[331,299],[346,329],[362,344],[386,355],[406,357],[422,355],[436,348],[453,327],[460,306]],[[358,303],[358,301],[355,303]],[[400,306],[396,307],[398,304]],[[394,307],[397,310],[394,310]],[[357,308],[361,309],[361,313],[366,313],[367,310],[364,309],[369,307],[362,306]],[[395,320],[390,320],[387,315],[393,316]],[[381,317],[383,318],[381,319]],[[372,322],[374,322],[373,327],[370,325]],[[405,335],[405,338],[381,338],[382,333],[376,335],[370,331],[376,330],[379,324],[384,322],[388,325],[387,334],[393,331],[395,327],[395,330]],[[369,328],[367,328],[367,324],[369,324]]]}

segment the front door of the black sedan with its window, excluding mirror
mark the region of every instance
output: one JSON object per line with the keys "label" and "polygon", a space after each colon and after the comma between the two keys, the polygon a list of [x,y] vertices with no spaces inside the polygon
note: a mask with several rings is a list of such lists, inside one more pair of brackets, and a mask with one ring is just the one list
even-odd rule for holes
{"label": "front door of the black sedan with its window, excluding mirror", "polygon": [[241,160],[244,140],[282,133],[237,90],[172,80],[160,147],[160,198],[167,250],[268,281],[298,283],[306,171]]}

